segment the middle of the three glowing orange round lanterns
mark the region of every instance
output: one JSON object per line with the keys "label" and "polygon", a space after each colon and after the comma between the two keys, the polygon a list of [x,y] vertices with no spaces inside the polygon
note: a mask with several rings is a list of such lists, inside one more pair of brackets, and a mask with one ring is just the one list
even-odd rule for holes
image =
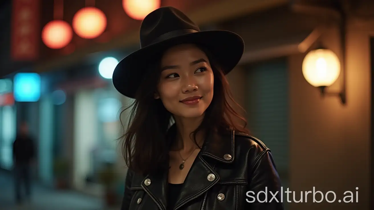
{"label": "middle of the three glowing orange round lanterns", "polygon": [[93,39],[100,36],[107,27],[107,17],[96,7],[84,7],[73,17],[73,29],[78,36]]}

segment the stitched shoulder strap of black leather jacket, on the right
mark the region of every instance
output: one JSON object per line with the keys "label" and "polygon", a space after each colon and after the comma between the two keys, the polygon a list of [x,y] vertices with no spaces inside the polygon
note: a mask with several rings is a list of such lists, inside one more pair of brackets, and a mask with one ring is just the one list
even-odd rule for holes
{"label": "stitched shoulder strap of black leather jacket, on the right", "polygon": [[269,147],[267,147],[260,139],[249,134],[234,131],[234,138],[236,146],[248,146],[248,149],[255,147],[257,150],[270,151]]}

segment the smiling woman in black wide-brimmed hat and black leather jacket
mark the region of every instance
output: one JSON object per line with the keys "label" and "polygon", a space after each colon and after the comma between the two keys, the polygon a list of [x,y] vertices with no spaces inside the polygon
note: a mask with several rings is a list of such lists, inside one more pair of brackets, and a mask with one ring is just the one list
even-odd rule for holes
{"label": "smiling woman in black wide-brimmed hat and black leather jacket", "polygon": [[135,98],[122,137],[122,210],[283,209],[270,150],[227,100],[224,75],[243,54],[241,37],[199,31],[161,7],[143,20],[140,40],[113,73],[115,88]]}

